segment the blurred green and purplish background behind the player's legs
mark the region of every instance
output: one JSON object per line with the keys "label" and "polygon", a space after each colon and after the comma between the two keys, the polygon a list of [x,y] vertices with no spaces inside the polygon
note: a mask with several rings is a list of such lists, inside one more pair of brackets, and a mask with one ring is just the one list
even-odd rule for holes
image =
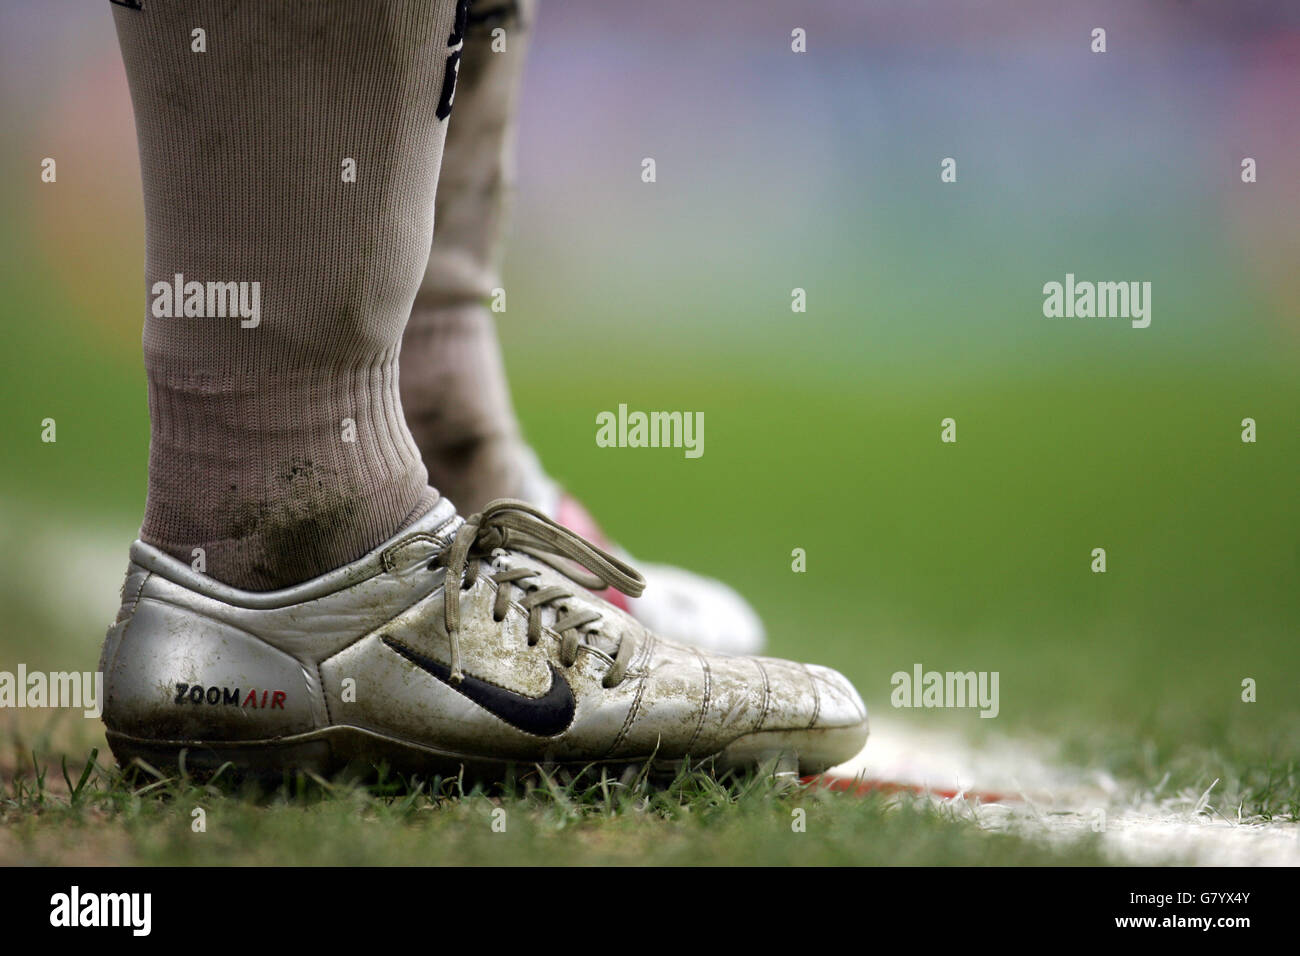
{"label": "blurred green and purplish background behind the player's legs", "polygon": [[[1300,7],[1048,7],[543,3],[515,401],[614,538],[876,713],[1296,760]],[[107,0],[4,0],[0,51],[0,670],[90,670],[144,496],[135,131]],[[1150,328],[1045,319],[1067,272],[1149,281]],[[705,455],[597,447],[619,403]],[[890,711],[918,662],[1000,671],[1000,718]]]}

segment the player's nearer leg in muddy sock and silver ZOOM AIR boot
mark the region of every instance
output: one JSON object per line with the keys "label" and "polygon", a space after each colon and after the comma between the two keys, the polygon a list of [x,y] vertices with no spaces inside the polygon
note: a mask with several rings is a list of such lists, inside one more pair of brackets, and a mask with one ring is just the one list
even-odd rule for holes
{"label": "player's nearer leg in muddy sock and silver ZOOM AIR boot", "polygon": [[640,593],[627,562],[524,502],[467,519],[426,486],[395,358],[430,242],[454,13],[113,7],[153,428],[100,661],[114,753],[276,778],[846,760],[866,711],[838,674],[663,640],[589,591]]}

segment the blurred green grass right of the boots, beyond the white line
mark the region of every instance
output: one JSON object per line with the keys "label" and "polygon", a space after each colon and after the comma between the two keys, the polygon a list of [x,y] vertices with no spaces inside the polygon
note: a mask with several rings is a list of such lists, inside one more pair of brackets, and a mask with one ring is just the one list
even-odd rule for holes
{"label": "blurred green grass right of the boots, beyond the white line", "polygon": [[[1294,376],[1156,367],[1097,390],[1060,373],[805,375],[794,393],[767,371],[592,373],[529,433],[636,554],[736,583],[775,653],[842,669],[878,711],[914,662],[996,670],[997,721],[909,719],[1032,730],[1101,756],[1118,736],[1300,758]],[[595,449],[590,410],[618,401],[702,408],[711,445],[698,462]],[[1242,407],[1273,423],[1266,444],[1239,441]],[[957,445],[939,441],[946,415]]]}

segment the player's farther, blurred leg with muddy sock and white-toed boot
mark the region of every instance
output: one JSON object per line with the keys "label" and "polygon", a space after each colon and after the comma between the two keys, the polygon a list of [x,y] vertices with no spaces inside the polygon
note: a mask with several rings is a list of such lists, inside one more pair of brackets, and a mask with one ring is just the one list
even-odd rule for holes
{"label": "player's farther, blurred leg with muddy sock and white-toed boot", "polygon": [[[402,405],[432,483],[462,510],[517,497],[607,544],[524,441],[486,304],[502,284],[520,79],[534,17],[532,0],[481,0],[471,9],[456,118],[443,151],[438,228],[402,342]],[[762,622],[727,585],[675,567],[638,566],[649,579],[646,596],[607,597],[651,630],[731,653],[762,646]]]}

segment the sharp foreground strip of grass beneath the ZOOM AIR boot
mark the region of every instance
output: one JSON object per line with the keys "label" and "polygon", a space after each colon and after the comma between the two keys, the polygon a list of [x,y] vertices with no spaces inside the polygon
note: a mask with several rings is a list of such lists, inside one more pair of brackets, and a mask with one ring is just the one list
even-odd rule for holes
{"label": "sharp foreground strip of grass beneath the ZOOM AIR boot", "polygon": [[[273,792],[220,778],[127,779],[103,761],[43,765],[17,750],[0,793],[0,857],[139,865],[1035,865],[1096,864],[984,832],[927,801],[854,797],[751,775],[668,784],[536,777],[510,788],[459,780],[328,783]],[[195,829],[202,810],[203,830]]]}

